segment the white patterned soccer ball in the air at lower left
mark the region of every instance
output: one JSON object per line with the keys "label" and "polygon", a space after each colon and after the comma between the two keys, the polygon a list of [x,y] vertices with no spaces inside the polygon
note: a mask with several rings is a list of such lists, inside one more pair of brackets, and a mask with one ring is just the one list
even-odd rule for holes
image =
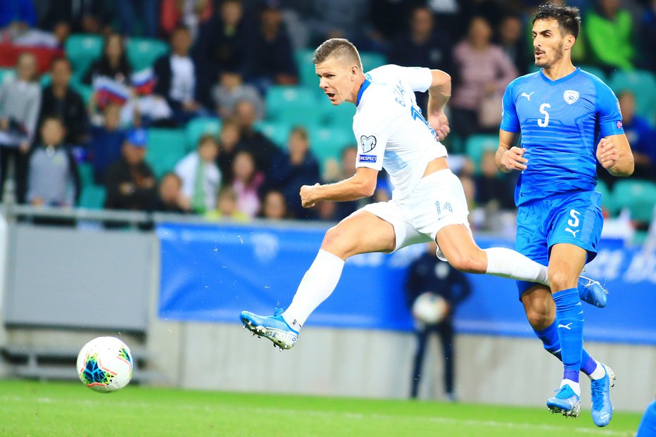
{"label": "white patterned soccer ball in the air at lower left", "polygon": [[116,337],[97,337],[77,355],[77,374],[85,386],[110,393],[127,386],[132,379],[132,353]]}

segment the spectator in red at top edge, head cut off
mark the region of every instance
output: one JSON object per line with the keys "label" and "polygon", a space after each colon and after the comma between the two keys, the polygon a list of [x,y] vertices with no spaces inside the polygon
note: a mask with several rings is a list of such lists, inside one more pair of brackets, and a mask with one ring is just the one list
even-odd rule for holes
{"label": "spectator in red at top edge, head cut off", "polygon": [[191,39],[196,40],[198,27],[213,15],[211,0],[162,0],[160,24],[165,35],[184,25],[189,28]]}

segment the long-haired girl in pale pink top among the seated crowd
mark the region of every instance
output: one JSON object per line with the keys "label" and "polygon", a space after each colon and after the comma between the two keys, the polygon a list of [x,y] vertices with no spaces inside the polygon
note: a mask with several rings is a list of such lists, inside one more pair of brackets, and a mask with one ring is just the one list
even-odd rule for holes
{"label": "long-haired girl in pale pink top among the seated crowd", "polygon": [[264,176],[258,172],[253,155],[240,151],[232,163],[234,180],[232,188],[237,195],[237,208],[248,217],[255,217],[260,210],[258,190],[264,182]]}

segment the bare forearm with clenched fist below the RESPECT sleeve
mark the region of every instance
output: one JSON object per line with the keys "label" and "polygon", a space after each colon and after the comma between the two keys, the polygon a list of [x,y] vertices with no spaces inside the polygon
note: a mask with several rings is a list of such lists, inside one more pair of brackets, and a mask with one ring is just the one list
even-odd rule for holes
{"label": "bare forearm with clenched fist below the RESPECT sleeve", "polygon": [[301,186],[303,208],[312,208],[318,201],[355,201],[369,197],[376,190],[378,170],[358,167],[355,175],[335,184]]}

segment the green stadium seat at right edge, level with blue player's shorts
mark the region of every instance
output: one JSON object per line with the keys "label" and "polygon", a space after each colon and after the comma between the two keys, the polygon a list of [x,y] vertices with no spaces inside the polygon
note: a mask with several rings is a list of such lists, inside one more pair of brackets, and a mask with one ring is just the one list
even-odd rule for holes
{"label": "green stadium seat at right edge, level with blue player's shorts", "polygon": [[629,210],[631,220],[650,222],[656,206],[656,183],[640,179],[617,181],[612,197],[618,210]]}

